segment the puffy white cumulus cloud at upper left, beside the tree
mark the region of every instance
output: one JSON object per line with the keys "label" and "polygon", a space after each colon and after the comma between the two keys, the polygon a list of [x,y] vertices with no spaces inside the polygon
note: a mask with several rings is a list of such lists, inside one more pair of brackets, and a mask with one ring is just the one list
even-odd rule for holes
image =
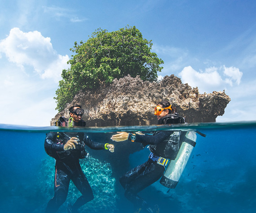
{"label": "puffy white cumulus cloud at upper left, beside the tree", "polygon": [[0,52],[22,70],[32,66],[41,78],[53,78],[56,82],[61,79],[62,70],[69,68],[66,63],[69,57],[58,55],[51,39],[38,31],[26,33],[17,27],[11,29],[8,37],[0,41]]}

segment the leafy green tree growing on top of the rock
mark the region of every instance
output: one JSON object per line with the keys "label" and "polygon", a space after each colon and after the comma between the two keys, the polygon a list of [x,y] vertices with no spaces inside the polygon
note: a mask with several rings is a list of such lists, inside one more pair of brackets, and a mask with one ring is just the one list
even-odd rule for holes
{"label": "leafy green tree growing on top of the rock", "polygon": [[54,98],[57,109],[63,110],[80,90],[111,83],[128,74],[151,82],[156,80],[157,72],[163,69],[159,66],[163,60],[150,52],[152,45],[151,40],[142,38],[135,26],[113,32],[98,29],[86,42],[75,42],[70,49],[75,54],[68,61],[71,68],[62,70],[62,80]]}

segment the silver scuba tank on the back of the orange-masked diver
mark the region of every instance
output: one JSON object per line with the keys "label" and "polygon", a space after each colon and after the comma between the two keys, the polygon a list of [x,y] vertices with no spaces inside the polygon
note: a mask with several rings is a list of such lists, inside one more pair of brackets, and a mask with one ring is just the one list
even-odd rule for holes
{"label": "silver scuba tank on the back of the orange-masked diver", "polygon": [[179,183],[179,179],[185,166],[190,158],[190,154],[195,146],[196,133],[187,131],[185,138],[181,142],[181,147],[175,160],[171,160],[165,173],[163,174],[160,183],[168,188],[174,189]]}

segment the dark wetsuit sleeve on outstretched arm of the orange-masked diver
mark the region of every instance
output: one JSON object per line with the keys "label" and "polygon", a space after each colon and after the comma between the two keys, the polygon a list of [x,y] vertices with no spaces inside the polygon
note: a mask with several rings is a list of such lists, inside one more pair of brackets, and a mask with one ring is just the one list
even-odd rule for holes
{"label": "dark wetsuit sleeve on outstretched arm of the orange-masked diver", "polygon": [[[156,145],[163,142],[172,135],[173,131],[160,131],[155,135],[136,135],[134,142],[143,143],[144,145]],[[129,133],[128,140],[131,140],[132,134]]]}

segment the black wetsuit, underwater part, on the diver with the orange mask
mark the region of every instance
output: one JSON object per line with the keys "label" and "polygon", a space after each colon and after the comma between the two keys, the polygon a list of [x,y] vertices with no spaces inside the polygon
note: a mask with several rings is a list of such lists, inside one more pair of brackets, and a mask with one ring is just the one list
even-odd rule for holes
{"label": "black wetsuit, underwater part, on the diver with the orange mask", "polygon": [[[142,143],[144,146],[150,145],[151,155],[154,154],[155,157],[161,156],[174,160],[183,135],[185,136],[181,131],[157,131],[153,135],[136,135],[134,142]],[[128,140],[131,140],[131,134]],[[152,159],[149,158],[144,164],[138,165],[119,179],[125,189],[125,197],[134,204],[136,209],[142,208],[148,212],[153,211],[137,193],[156,182],[165,171],[164,165],[159,165],[154,158]]]}

